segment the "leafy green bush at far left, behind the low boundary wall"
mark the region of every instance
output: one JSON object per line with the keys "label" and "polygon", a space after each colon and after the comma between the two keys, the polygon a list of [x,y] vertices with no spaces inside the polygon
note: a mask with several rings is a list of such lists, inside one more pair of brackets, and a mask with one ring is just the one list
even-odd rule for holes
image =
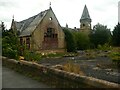
{"label": "leafy green bush at far left, behind the low boundary wall", "polygon": [[12,30],[3,30],[2,32],[2,55],[17,59],[19,58],[19,40]]}

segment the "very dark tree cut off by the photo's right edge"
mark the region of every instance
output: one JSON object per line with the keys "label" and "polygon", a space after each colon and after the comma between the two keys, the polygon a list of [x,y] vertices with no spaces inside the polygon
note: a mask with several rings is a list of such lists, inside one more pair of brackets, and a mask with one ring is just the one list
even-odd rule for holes
{"label": "very dark tree cut off by the photo's right edge", "polygon": [[112,40],[113,40],[113,45],[120,46],[120,24],[119,23],[118,25],[115,26],[113,30]]}

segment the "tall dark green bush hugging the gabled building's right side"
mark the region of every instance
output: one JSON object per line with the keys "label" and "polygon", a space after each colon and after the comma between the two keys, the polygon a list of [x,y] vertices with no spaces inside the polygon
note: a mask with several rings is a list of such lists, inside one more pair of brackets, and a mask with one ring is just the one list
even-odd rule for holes
{"label": "tall dark green bush hugging the gabled building's right side", "polygon": [[66,48],[68,52],[75,52],[75,40],[72,33],[68,29],[63,29],[65,33]]}

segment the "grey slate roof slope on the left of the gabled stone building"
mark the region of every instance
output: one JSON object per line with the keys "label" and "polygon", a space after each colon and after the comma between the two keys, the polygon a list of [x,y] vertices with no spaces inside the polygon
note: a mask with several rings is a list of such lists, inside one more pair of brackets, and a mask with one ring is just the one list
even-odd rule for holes
{"label": "grey slate roof slope on the left of the gabled stone building", "polygon": [[39,14],[37,14],[33,17],[30,17],[26,20],[16,22],[17,30],[19,30],[21,32],[20,37],[31,35],[32,32],[37,27],[37,25],[42,21],[42,19],[46,15],[47,11],[48,10],[42,11]]}

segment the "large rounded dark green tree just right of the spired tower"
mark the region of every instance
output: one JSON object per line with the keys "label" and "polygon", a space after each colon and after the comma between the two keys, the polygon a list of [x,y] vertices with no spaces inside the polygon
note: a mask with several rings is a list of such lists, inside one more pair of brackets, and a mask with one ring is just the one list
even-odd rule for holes
{"label": "large rounded dark green tree just right of the spired tower", "polygon": [[110,43],[111,40],[110,29],[99,23],[93,27],[93,30],[89,36],[90,41],[95,47],[98,45],[104,45],[105,43]]}

